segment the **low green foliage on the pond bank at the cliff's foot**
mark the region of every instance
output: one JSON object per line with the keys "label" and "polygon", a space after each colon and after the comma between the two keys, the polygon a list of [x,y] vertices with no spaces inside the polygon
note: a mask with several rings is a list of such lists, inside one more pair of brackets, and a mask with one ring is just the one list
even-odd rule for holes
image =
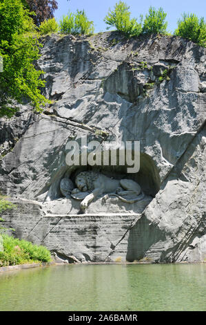
{"label": "low green foliage on the pond bank at the cliff's foot", "polygon": [[0,266],[17,265],[32,262],[50,262],[51,254],[43,246],[29,241],[15,239],[6,234],[3,237],[3,252],[0,252]]}

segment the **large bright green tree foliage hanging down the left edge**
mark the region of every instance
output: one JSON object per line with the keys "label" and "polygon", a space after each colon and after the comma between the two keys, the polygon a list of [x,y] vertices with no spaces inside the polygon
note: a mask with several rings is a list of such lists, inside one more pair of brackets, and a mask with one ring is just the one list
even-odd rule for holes
{"label": "large bright green tree foliage hanging down the left edge", "polygon": [[14,101],[30,100],[34,109],[49,103],[41,95],[43,71],[37,71],[34,62],[39,58],[39,44],[30,12],[20,0],[0,3],[0,55],[3,72],[0,73],[0,117],[9,117],[17,111]]}

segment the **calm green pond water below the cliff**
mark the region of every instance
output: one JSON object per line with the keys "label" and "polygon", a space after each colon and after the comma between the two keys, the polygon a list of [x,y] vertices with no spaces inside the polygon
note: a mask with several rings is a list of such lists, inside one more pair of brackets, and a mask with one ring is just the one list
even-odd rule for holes
{"label": "calm green pond water below the cliff", "polygon": [[206,264],[65,265],[0,274],[0,310],[206,310]]}

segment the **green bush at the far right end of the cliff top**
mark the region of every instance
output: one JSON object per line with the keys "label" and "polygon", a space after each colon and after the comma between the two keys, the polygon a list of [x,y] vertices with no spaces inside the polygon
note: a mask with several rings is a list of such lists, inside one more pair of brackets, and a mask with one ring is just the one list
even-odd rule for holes
{"label": "green bush at the far right end of the cliff top", "polygon": [[175,35],[190,39],[200,46],[206,46],[206,23],[204,18],[198,19],[196,15],[183,14],[183,19],[178,20]]}

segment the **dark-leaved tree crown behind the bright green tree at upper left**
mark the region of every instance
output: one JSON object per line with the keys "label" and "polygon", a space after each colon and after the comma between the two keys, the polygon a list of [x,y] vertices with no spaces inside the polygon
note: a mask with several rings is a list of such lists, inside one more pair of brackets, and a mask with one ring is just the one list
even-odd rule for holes
{"label": "dark-leaved tree crown behind the bright green tree at upper left", "polygon": [[45,19],[54,17],[54,10],[58,8],[56,0],[22,0],[23,4],[28,7],[32,15],[34,24],[40,26]]}

